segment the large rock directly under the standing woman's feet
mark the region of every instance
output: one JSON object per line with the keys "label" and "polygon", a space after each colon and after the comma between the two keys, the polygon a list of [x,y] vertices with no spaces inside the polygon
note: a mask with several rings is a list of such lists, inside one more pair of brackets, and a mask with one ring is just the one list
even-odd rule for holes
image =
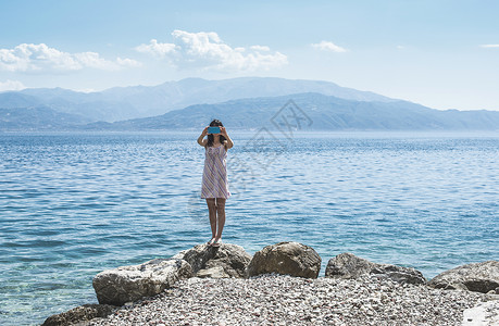
{"label": "large rock directly under the standing woman's feet", "polygon": [[237,244],[221,243],[220,247],[198,244],[173,256],[187,261],[197,277],[242,278],[251,255]]}

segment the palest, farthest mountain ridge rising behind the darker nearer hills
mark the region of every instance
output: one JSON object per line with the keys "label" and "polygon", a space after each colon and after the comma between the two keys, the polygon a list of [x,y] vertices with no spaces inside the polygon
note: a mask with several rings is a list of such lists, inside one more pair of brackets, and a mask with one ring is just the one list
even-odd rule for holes
{"label": "palest, farthest mountain ridge rising behind the darker nearer hills", "polygon": [[394,101],[369,91],[320,80],[245,77],[223,80],[187,78],[158,86],[116,87],[100,92],[37,88],[0,92],[0,109],[47,106],[93,122],[115,122],[160,115],[192,104],[213,104],[241,98],[319,92],[358,101]]}

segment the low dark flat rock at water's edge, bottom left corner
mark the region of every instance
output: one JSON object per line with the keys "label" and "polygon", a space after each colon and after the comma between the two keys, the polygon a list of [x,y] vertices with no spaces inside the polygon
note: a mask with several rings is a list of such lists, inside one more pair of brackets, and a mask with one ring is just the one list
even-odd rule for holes
{"label": "low dark flat rock at water's edge, bottom left corner", "polygon": [[84,304],[48,317],[42,326],[62,326],[107,317],[117,308],[109,304]]}

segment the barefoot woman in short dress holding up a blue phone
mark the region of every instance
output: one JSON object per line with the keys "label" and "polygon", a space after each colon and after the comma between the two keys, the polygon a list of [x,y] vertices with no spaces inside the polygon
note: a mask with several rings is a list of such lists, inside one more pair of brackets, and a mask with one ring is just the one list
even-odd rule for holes
{"label": "barefoot woman in short dress holding up a blue phone", "polygon": [[[220,121],[212,121],[210,127],[220,127],[220,134],[209,134],[205,127],[198,137],[198,143],[205,150],[201,198],[207,199],[210,215],[212,237],[208,246],[219,247],[225,225],[225,200],[230,197],[226,166],[227,150],[234,142]],[[207,135],[208,138],[204,138]]]}

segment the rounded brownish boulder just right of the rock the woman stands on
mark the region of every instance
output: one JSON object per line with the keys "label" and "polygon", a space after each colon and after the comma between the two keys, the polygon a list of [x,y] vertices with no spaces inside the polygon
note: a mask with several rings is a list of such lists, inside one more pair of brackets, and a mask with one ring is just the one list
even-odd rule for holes
{"label": "rounded brownish boulder just right of the rock the woman stands on", "polygon": [[254,253],[248,265],[248,276],[277,273],[305,278],[317,278],[321,256],[309,246],[279,242]]}

